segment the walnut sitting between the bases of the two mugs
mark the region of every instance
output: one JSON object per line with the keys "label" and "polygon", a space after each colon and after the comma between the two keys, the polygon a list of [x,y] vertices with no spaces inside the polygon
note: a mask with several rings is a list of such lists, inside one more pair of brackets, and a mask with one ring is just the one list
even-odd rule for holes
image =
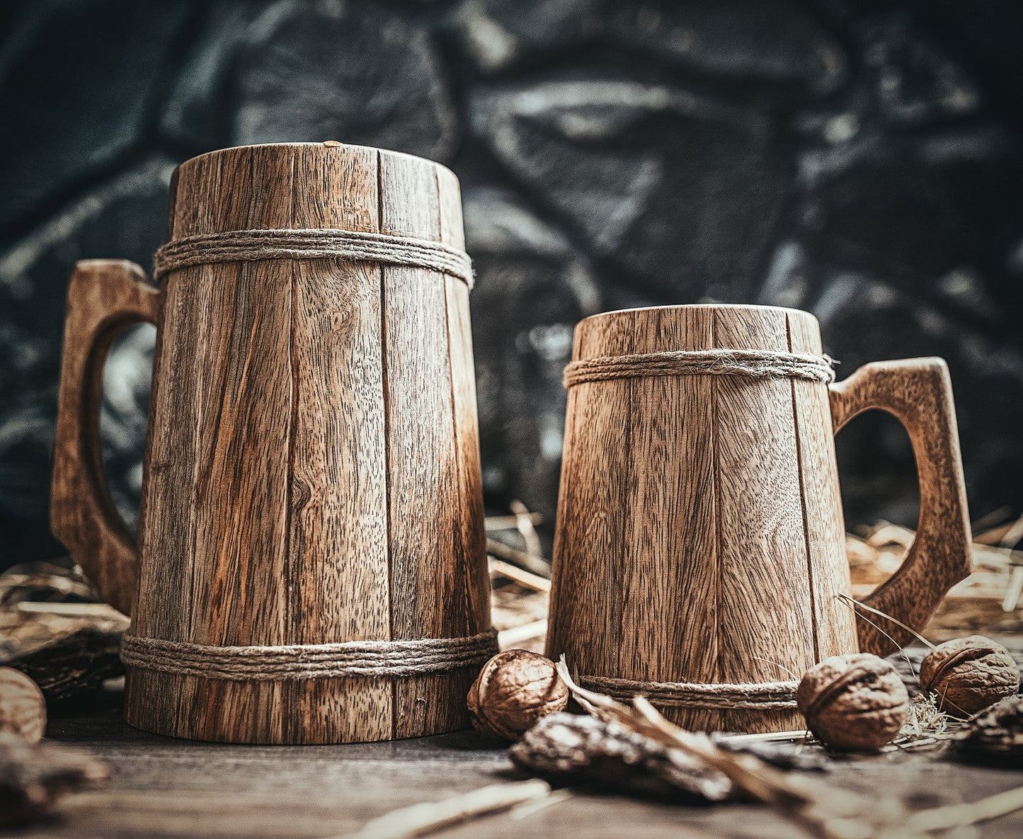
{"label": "walnut sitting between the bases of the two mugs", "polygon": [[518,740],[541,716],[565,710],[569,689],[553,663],[537,653],[505,650],[483,665],[469,690],[473,725]]}

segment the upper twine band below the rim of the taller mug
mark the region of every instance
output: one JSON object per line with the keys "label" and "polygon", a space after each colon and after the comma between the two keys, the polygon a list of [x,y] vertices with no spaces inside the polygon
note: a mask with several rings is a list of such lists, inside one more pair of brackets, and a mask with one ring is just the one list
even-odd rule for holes
{"label": "upper twine band below the rim of the taller mug", "polygon": [[157,251],[157,279],[192,265],[267,259],[346,259],[425,268],[473,288],[469,254],[442,241],[360,230],[229,230],[172,239]]}

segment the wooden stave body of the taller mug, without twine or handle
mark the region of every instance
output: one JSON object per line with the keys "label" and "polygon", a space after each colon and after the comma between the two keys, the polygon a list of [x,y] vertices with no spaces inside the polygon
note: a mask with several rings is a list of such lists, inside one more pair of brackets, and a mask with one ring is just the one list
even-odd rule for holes
{"label": "wooden stave body of the taller mug, without twine or handle", "polygon": [[[212,152],[178,168],[169,236],[324,227],[460,245],[457,182],[441,171],[358,146]],[[468,297],[452,319],[447,282],[344,260],[167,276],[134,633],[283,645],[489,628]],[[126,716],[204,740],[385,740],[464,725],[472,676],[250,682],[129,668]]]}

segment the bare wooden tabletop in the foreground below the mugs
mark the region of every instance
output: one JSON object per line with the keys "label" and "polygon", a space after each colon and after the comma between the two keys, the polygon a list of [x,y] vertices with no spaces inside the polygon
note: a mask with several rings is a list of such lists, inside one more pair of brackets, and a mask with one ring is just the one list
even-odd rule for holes
{"label": "bare wooden tabletop in the foreground below the mugs", "polygon": [[[225,746],[159,737],[122,721],[120,694],[55,716],[48,737],[85,746],[112,767],[102,790],[69,798],[60,822],[15,834],[42,837],[328,837],[395,807],[436,801],[519,778],[504,750],[475,732],[347,746]],[[913,807],[974,801],[1023,785],[1023,767],[966,766],[892,753],[836,765],[829,783]],[[445,837],[729,837],[801,835],[755,804],[684,807],[573,793],[513,819],[498,814]],[[1023,836],[1023,812],[959,836]]]}

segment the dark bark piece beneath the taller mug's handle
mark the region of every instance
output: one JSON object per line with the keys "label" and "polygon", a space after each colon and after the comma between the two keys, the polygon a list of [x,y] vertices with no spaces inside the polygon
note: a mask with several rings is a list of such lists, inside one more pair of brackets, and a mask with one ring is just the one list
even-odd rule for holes
{"label": "dark bark piece beneath the taller mug's handle", "polygon": [[0,663],[32,678],[48,703],[65,702],[95,694],[105,679],[124,673],[123,634],[123,628],[84,627]]}

